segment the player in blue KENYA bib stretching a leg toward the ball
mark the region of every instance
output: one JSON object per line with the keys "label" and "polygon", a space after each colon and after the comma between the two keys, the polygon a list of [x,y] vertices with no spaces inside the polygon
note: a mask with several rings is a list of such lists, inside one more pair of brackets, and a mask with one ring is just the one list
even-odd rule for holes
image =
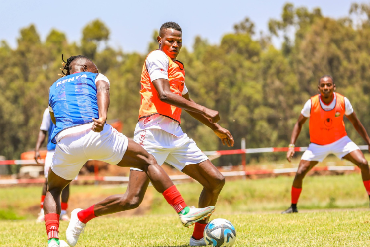
{"label": "player in blue KENYA bib stretching a leg toward the ball", "polygon": [[[60,194],[89,159],[145,171],[154,188],[176,210],[184,226],[211,215],[214,206],[189,208],[155,158],[139,144],[106,124],[109,107],[109,80],[98,73],[85,56],[68,58],[65,77],[49,89],[49,111],[55,129],[51,141],[56,144],[48,174],[44,200],[48,247],[59,247]],[[64,74],[64,71],[63,71]],[[135,188],[132,188],[135,189]],[[67,242],[75,246],[86,223],[98,216],[122,211],[111,196],[86,210],[75,209],[66,231]]]}

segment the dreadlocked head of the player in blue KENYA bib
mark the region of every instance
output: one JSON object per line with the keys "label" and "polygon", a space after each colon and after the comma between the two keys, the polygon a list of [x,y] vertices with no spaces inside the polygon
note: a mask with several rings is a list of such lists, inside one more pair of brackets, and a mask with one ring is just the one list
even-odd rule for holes
{"label": "dreadlocked head of the player in blue KENYA bib", "polygon": [[[61,68],[61,70],[63,74],[59,74],[62,77],[68,76],[75,72],[85,72],[85,71],[92,73],[98,72],[97,67],[93,63],[93,61],[83,55],[71,56],[67,59],[67,61],[64,61],[62,55],[62,61],[63,69]],[[64,70],[66,70],[66,73],[64,73]]]}

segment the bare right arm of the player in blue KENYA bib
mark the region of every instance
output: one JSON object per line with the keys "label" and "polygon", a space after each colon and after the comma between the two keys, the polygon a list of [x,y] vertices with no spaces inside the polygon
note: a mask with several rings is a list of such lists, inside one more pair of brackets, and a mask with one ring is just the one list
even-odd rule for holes
{"label": "bare right arm of the player in blue KENYA bib", "polygon": [[109,95],[109,83],[104,80],[96,82],[96,97],[97,106],[99,108],[99,119],[94,119],[93,127],[91,128],[95,132],[101,132],[104,128],[105,121],[107,120],[108,108],[110,103]]}

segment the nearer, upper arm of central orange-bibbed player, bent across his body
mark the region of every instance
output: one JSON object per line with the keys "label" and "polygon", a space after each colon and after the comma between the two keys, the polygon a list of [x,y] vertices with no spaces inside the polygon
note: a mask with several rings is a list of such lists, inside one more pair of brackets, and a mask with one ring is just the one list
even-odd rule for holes
{"label": "nearer, upper arm of central orange-bibbed player, bent across his body", "polygon": [[160,101],[182,108],[185,111],[202,114],[210,119],[212,123],[217,123],[220,120],[218,111],[208,109],[171,92],[170,83],[167,79],[159,78],[152,83],[155,90],[157,90]]}

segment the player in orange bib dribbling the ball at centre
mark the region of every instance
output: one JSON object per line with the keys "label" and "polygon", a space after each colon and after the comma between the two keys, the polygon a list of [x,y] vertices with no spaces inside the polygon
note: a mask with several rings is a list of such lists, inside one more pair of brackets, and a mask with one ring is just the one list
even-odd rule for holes
{"label": "player in orange bib dribbling the ball at centre", "polygon": [[[210,127],[224,145],[233,146],[230,132],[216,122],[219,113],[196,104],[185,86],[184,65],[176,60],[182,46],[181,27],[164,23],[158,36],[159,49],[147,56],[141,74],[141,107],[134,141],[154,155],[157,163],[167,162],[203,185],[199,207],[214,206],[225,184],[224,176],[180,127],[181,110]],[[121,197],[127,208],[139,206],[149,179],[141,169],[131,168],[128,189]],[[135,190],[130,189],[135,188]],[[206,245],[203,231],[209,218],[195,223],[190,246]]]}

